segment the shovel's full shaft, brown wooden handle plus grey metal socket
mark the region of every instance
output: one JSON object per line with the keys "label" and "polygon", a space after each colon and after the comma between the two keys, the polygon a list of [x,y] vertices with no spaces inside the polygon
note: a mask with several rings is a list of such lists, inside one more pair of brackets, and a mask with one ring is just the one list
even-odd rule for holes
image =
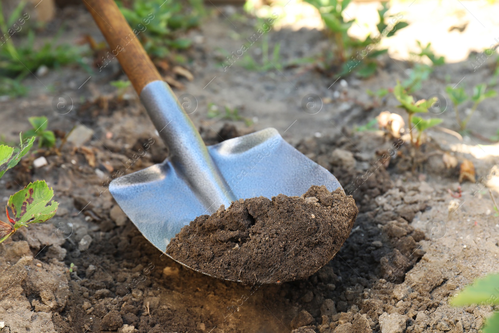
{"label": "shovel's full shaft, brown wooden handle plus grey metal socket", "polygon": [[[196,193],[206,207],[205,213],[214,213],[221,204],[230,204],[234,195],[227,191],[201,135],[142,47],[138,29],[130,28],[113,0],[83,2],[168,146],[174,171]],[[154,13],[144,19],[154,19]]]}

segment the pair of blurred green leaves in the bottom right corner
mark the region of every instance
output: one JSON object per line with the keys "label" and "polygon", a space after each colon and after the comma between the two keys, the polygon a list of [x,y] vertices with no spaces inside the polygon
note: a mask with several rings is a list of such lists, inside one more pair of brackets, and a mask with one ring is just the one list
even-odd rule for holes
{"label": "pair of blurred green leaves in the bottom right corner", "polygon": [[[497,286],[499,285],[499,274],[489,274],[475,280],[472,285],[467,286],[461,293],[450,300],[455,307],[468,306],[472,304],[498,305]],[[499,313],[494,312],[487,318],[482,333],[499,332]]]}

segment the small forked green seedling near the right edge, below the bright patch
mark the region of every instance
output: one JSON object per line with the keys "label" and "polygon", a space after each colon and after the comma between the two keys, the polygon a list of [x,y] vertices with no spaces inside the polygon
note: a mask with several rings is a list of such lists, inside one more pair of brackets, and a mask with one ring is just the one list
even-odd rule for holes
{"label": "small forked green seedling near the right edge, below the bright patch", "polygon": [[[475,113],[475,111],[477,110],[478,105],[487,98],[495,97],[497,95],[496,90],[487,91],[487,84],[485,83],[476,85],[473,88],[473,95],[471,97],[466,94],[464,88],[462,87],[452,88],[451,86],[447,86],[446,92],[449,95],[449,98],[451,99],[454,106],[454,111],[456,112],[456,121],[463,131],[466,131],[466,126],[473,116],[473,113]],[[468,100],[472,101],[473,105],[468,116],[464,120],[461,120],[461,116],[459,115],[459,105]]]}

